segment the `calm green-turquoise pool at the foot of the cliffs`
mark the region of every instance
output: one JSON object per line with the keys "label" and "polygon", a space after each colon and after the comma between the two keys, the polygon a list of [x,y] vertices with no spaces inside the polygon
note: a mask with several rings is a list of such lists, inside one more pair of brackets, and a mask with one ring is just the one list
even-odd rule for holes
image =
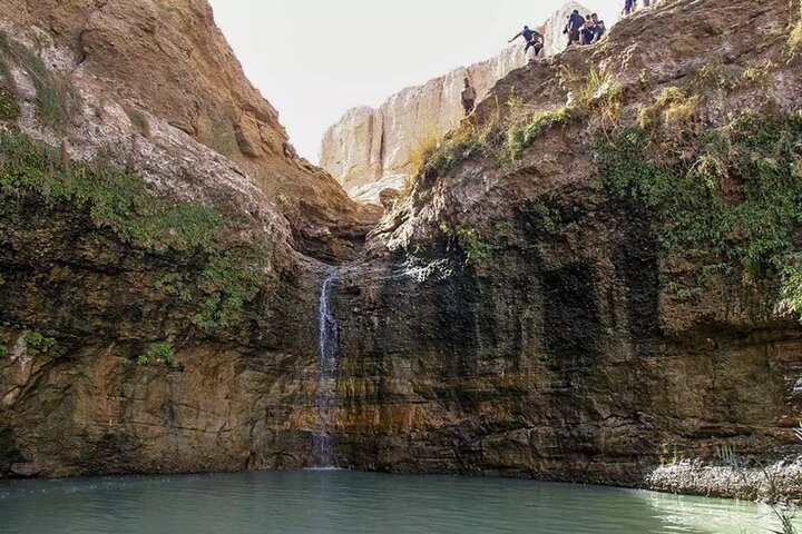
{"label": "calm green-turquoise pool at the foot of the cliffs", "polygon": [[766,533],[751,503],[498,478],[343,471],[0,482],[16,533]]}

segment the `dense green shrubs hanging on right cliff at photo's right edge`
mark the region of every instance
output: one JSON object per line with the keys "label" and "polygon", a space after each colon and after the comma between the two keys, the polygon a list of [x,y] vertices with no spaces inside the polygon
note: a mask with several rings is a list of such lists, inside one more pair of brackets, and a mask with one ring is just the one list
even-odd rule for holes
{"label": "dense green shrubs hanging on right cliff at photo's right edge", "polygon": [[802,181],[794,170],[802,161],[802,118],[743,113],[688,140],[695,161],[655,161],[646,151],[649,142],[646,131],[630,129],[613,145],[597,144],[607,189],[649,208],[667,250],[708,250],[747,285],[782,273],[782,296],[802,317],[794,245],[802,228]]}

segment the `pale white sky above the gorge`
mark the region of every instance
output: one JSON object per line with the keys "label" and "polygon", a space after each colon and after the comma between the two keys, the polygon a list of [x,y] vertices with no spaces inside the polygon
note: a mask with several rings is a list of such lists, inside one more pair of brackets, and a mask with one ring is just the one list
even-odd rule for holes
{"label": "pale white sky above the gorge", "polygon": [[[325,130],[354,106],[495,56],[561,0],[211,0],[245,73],[317,162]],[[612,21],[624,0],[586,0]],[[522,44],[521,44],[522,46]]]}

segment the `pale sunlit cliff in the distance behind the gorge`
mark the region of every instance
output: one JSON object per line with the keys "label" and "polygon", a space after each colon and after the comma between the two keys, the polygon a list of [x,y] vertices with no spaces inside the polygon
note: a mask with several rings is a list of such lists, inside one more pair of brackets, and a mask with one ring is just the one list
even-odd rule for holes
{"label": "pale sunlit cliff in the distance behind the gorge", "polygon": [[[565,49],[567,39],[563,29],[574,9],[590,12],[581,3],[569,1],[538,28],[546,38],[546,56]],[[403,89],[379,109],[349,110],[323,137],[321,167],[359,200],[375,201],[382,189],[399,188],[407,175],[410,150],[420,139],[432,131],[442,136],[462,119],[462,80],[471,80],[481,100],[498,80],[532,58],[531,49],[529,57],[525,57],[524,47],[524,40],[519,39],[487,61],[460,67],[422,86]]]}

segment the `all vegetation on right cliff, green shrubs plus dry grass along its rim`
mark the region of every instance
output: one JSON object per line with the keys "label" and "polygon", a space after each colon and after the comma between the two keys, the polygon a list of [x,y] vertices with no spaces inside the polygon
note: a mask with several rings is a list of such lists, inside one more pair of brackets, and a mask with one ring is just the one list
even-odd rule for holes
{"label": "all vegetation on right cliff, green shrubs plus dry grass along its rim", "polygon": [[770,59],[737,72],[705,65],[694,86],[663,87],[647,103],[638,103],[652,89],[644,73],[626,88],[593,68],[585,77],[558,76],[566,105],[529,110],[512,92],[509,116],[481,134],[463,125],[428,151],[419,178],[443,176],[477,156],[515,171],[549,131],[584,125],[596,139],[587,150],[602,187],[647,209],[667,254],[700,253],[701,286],[714,274],[740,277],[745,287],[769,281],[761,290],[779,287],[775,300],[802,318],[802,115],[780,110],[769,95],[762,109],[741,107],[724,126],[702,118],[706,92],[764,90],[776,68]]}

